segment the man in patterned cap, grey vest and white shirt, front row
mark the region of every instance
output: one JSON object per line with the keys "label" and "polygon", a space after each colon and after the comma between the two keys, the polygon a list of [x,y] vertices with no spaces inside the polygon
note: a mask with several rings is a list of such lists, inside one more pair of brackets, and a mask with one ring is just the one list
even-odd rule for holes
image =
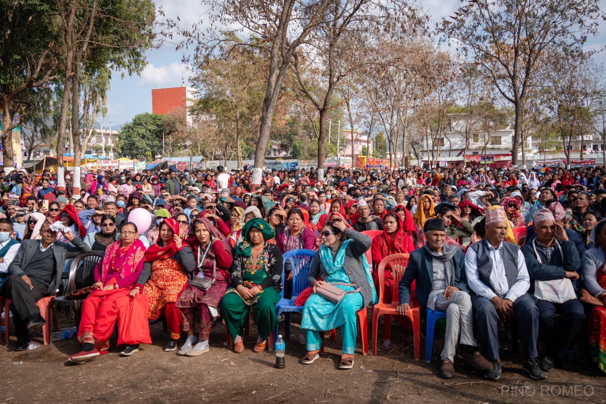
{"label": "man in patterned cap, grey vest and white shirt, front row", "polygon": [[498,321],[518,323],[524,353],[522,368],[531,379],[547,376],[539,367],[536,343],[539,336],[539,309],[529,295],[530,277],[524,255],[516,244],[505,241],[507,216],[502,207],[486,212],[486,238],[473,243],[465,254],[465,273],[470,289],[474,320],[482,356],[493,363],[484,377],[501,375]]}

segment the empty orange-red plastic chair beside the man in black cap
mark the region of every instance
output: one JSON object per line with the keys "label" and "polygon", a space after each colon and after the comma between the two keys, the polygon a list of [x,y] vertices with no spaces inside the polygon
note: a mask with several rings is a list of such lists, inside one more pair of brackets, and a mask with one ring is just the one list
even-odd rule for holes
{"label": "empty orange-red plastic chair beside the man in black cap", "polygon": [[[391,331],[391,316],[401,316],[398,313],[399,294],[398,283],[402,276],[393,276],[393,294],[391,303],[384,302],[385,295],[385,267],[387,264],[392,269],[405,269],[408,265],[409,254],[391,254],[379,263],[379,302],[373,306],[373,355],[377,354],[377,336],[379,328],[379,316],[385,316],[385,339],[389,339]],[[402,271],[404,273],[404,271]],[[393,274],[393,272],[392,272]],[[404,315],[413,323],[413,342],[415,346],[415,360],[421,359],[421,310],[416,302],[411,301],[411,307]],[[413,307],[414,306],[414,307]]]}

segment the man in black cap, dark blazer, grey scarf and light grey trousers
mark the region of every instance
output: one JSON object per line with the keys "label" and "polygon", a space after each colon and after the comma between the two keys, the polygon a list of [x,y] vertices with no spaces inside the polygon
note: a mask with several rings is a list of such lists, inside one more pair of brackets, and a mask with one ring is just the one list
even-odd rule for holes
{"label": "man in black cap, dark blazer, grey scarf and light grey trousers", "polygon": [[425,246],[410,253],[408,267],[399,283],[400,305],[405,314],[410,308],[410,287],[416,281],[416,295],[422,310],[446,311],[446,337],[442,350],[440,377],[454,376],[453,362],[459,343],[463,356],[474,368],[487,371],[492,364],[479,353],[473,337],[473,311],[465,281],[465,257],[459,247],[445,244],[446,229],[441,219],[425,222]]}

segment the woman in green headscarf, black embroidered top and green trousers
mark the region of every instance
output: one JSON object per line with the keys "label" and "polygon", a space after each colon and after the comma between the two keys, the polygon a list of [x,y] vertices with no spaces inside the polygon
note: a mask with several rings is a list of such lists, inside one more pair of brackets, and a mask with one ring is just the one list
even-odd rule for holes
{"label": "woman in green headscarf, black embroidered top and green trousers", "polygon": [[255,352],[263,352],[267,338],[278,324],[276,304],[282,290],[282,252],[272,239],[274,232],[264,220],[253,218],[241,231],[244,241],[236,246],[231,264],[231,284],[221,300],[221,313],[235,353],[244,351],[242,333],[248,321],[248,309],[258,325]]}

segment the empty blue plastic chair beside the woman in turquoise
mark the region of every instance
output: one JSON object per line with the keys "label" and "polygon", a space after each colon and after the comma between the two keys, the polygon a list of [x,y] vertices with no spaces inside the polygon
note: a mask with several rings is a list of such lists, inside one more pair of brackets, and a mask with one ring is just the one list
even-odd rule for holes
{"label": "empty blue plastic chair beside the woman in turquoise", "polygon": [[[290,338],[290,314],[291,313],[302,313],[303,306],[296,306],[295,299],[299,296],[299,293],[303,292],[305,288],[309,286],[307,283],[307,273],[311,268],[311,260],[316,255],[314,250],[299,249],[290,250],[284,253],[284,263],[282,264],[282,281],[284,282],[284,267],[286,266],[287,260],[290,261],[290,265],[293,269],[293,297],[291,299],[284,299],[284,288],[280,292],[281,299],[276,304],[276,316],[280,313],[285,313],[284,325],[286,328],[286,337]],[[276,343],[278,339],[278,325],[273,329],[273,342]]]}

